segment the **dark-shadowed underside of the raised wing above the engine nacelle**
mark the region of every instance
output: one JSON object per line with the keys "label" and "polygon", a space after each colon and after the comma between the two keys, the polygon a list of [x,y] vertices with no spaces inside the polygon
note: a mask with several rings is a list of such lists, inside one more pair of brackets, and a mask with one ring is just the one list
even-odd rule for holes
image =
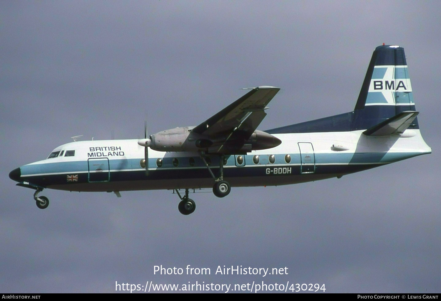
{"label": "dark-shadowed underside of the raised wing above the engine nacelle", "polygon": [[[265,118],[266,105],[279,90],[280,88],[269,86],[253,88],[219,113],[193,128],[192,132],[210,138],[241,136],[241,140],[246,140]],[[234,134],[234,132],[238,132],[238,134]]]}

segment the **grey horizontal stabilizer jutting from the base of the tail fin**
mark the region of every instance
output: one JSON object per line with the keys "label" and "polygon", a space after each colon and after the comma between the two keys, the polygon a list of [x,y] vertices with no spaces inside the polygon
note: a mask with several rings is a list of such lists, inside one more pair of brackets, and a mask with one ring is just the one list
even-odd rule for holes
{"label": "grey horizontal stabilizer jutting from the base of the tail fin", "polygon": [[367,129],[363,132],[366,136],[387,136],[392,134],[403,133],[412,121],[416,118],[419,112],[417,111],[404,111],[400,114],[396,114],[372,128]]}

